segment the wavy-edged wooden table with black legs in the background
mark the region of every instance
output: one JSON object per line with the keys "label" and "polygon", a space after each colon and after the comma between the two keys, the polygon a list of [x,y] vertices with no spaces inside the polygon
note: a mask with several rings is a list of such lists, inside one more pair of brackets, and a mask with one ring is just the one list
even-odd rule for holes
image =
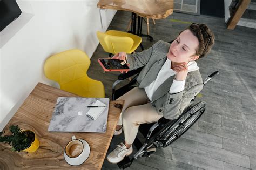
{"label": "wavy-edged wooden table with black legs in the background", "polygon": [[[99,0],[98,8],[116,9],[132,12],[131,33],[141,37],[148,37],[153,40],[150,35],[142,34],[142,17],[152,19],[162,19],[171,15],[173,12],[173,0]],[[136,19],[138,15],[138,27],[136,33]],[[142,47],[143,48],[143,47]]]}

